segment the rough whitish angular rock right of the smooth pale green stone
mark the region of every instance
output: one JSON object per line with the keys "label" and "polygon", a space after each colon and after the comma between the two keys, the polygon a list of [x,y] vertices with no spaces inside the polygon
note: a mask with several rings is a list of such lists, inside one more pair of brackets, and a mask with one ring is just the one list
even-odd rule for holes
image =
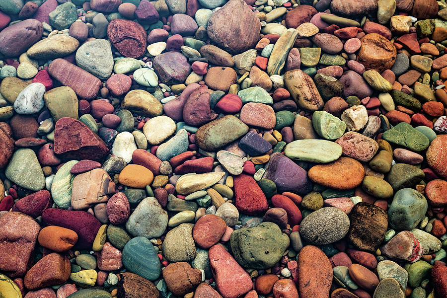
{"label": "rough whitish angular rock right of the smooth pale green stone", "polygon": [[312,115],[315,132],[326,140],[335,140],[343,136],[346,123],[326,111],[315,111]]}

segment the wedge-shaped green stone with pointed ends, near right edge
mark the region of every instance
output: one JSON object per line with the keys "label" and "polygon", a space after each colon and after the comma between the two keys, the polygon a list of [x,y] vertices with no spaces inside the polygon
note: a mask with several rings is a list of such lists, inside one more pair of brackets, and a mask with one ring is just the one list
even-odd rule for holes
{"label": "wedge-shaped green stone with pointed ends, near right edge", "polygon": [[401,122],[382,134],[382,139],[412,151],[422,151],[430,145],[429,139],[410,124]]}

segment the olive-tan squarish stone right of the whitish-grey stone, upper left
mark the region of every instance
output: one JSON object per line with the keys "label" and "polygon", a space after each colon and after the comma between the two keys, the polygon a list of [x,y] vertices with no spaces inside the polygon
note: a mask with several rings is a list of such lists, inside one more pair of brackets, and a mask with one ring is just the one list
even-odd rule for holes
{"label": "olive-tan squarish stone right of the whitish-grey stone, upper left", "polygon": [[44,101],[55,122],[63,117],[77,119],[79,105],[72,88],[61,86],[48,90],[44,94]]}

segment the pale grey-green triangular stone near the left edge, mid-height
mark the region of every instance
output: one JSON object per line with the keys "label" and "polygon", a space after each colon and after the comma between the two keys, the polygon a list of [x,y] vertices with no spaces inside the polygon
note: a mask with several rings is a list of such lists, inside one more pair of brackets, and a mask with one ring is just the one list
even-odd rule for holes
{"label": "pale grey-green triangular stone near the left edge, mid-height", "polygon": [[39,191],[45,187],[45,177],[36,153],[32,149],[17,149],[4,171],[6,178],[23,188]]}

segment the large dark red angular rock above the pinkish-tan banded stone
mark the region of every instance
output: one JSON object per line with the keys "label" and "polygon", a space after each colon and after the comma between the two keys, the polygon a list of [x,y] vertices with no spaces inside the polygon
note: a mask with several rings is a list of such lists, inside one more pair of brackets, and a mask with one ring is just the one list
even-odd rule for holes
{"label": "large dark red angular rock above the pinkish-tan banded stone", "polygon": [[99,160],[109,153],[109,149],[85,124],[63,117],[55,125],[54,152],[66,158]]}

